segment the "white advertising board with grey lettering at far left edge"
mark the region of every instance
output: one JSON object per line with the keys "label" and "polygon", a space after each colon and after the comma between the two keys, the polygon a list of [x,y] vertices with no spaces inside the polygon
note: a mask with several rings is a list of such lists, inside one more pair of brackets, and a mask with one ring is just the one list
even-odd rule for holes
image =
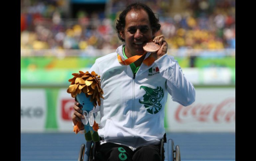
{"label": "white advertising board with grey lettering at far left edge", "polygon": [[44,89],[21,89],[21,132],[43,132],[47,116]]}

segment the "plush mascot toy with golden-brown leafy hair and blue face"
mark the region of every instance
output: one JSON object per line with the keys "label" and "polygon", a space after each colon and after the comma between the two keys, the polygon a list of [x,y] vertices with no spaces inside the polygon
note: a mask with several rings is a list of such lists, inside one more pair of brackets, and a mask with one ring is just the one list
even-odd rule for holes
{"label": "plush mascot toy with golden-brown leafy hair and blue face", "polygon": [[[85,73],[79,71],[79,73],[73,73],[74,77],[69,79],[71,82],[67,93],[71,94],[71,97],[75,98],[75,101],[79,102],[82,106],[83,116],[82,123],[84,125],[84,136],[87,141],[99,141],[98,129],[99,125],[94,121],[95,114],[92,112],[93,107],[100,106],[100,98],[103,98],[103,91],[100,87],[100,76],[94,71]],[[75,133],[80,131],[81,122],[77,122],[73,128]]]}

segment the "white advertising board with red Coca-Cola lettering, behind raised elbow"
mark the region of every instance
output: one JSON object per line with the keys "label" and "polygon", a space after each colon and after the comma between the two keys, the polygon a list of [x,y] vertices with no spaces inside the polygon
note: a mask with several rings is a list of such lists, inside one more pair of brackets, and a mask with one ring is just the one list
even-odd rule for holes
{"label": "white advertising board with red Coca-Cola lettering, behind raised elbow", "polygon": [[169,95],[165,119],[171,132],[235,132],[235,88],[197,88],[187,107]]}

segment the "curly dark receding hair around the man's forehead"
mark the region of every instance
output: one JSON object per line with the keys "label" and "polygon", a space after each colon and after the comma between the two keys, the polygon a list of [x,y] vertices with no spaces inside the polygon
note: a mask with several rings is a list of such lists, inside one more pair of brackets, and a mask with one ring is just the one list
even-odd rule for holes
{"label": "curly dark receding hair around the man's forehead", "polygon": [[150,22],[150,25],[151,25],[151,28],[152,29],[155,29],[156,32],[158,30],[160,30],[160,23],[159,23],[159,18],[156,18],[154,12],[145,4],[142,4],[140,2],[136,2],[136,3],[133,3],[133,4],[130,4],[129,6],[126,7],[126,9],[119,15],[119,20],[117,20],[116,22],[116,32],[118,34],[118,38],[120,40],[122,40],[123,42],[125,41],[124,39],[121,38],[119,32],[123,31],[124,30],[124,27],[125,27],[125,17],[127,15],[127,13],[129,11],[131,11],[132,9],[134,10],[145,10],[147,13],[148,13],[148,16],[149,16],[149,22]]}

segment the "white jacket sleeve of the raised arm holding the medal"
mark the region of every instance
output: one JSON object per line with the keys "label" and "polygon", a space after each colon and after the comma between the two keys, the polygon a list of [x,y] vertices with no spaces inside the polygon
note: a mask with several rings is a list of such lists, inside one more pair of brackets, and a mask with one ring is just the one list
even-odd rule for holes
{"label": "white jacket sleeve of the raised arm holding the medal", "polygon": [[163,55],[155,61],[160,74],[167,80],[167,91],[172,100],[183,106],[189,106],[195,101],[195,89],[182,73],[182,69],[173,56]]}

